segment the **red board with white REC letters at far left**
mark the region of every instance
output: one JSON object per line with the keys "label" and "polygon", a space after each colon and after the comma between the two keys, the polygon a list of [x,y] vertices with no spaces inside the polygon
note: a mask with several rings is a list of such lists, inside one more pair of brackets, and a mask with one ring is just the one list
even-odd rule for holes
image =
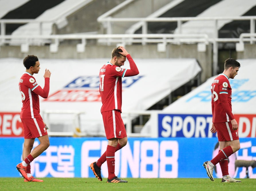
{"label": "red board with white REC letters at far left", "polygon": [[23,125],[19,112],[0,112],[0,137],[22,137]]}

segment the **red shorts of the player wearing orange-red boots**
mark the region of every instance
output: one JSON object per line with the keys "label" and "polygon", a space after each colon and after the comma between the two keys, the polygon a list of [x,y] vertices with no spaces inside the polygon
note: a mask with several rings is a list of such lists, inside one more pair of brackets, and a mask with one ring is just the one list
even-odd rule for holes
{"label": "red shorts of the player wearing orange-red boots", "polygon": [[24,129],[24,138],[37,138],[47,135],[42,117],[21,119]]}

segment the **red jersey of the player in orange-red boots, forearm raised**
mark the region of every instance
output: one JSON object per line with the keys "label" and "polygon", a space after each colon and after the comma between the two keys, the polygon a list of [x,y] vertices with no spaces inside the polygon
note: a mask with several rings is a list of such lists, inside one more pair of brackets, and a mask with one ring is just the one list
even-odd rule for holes
{"label": "red jersey of the player in orange-red boots, forearm raised", "polygon": [[48,97],[50,78],[45,78],[44,89],[37,83],[36,79],[28,72],[23,73],[19,80],[19,91],[22,98],[22,109],[20,118],[37,118],[40,116],[39,96]]}

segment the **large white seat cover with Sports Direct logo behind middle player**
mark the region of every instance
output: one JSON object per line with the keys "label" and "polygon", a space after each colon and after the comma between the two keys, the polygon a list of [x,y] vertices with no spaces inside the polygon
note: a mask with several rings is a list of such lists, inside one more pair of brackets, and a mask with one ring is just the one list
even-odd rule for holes
{"label": "large white seat cover with Sports Direct logo behind middle player", "polygon": [[[105,135],[100,113],[99,69],[110,59],[40,59],[40,71],[34,74],[44,87],[44,70],[51,71],[50,93],[40,98],[44,110],[75,110],[81,115],[81,130],[87,134]],[[122,110],[146,110],[171,91],[194,78],[201,68],[196,59],[134,59],[139,75],[123,78]],[[19,112],[22,107],[18,89],[19,79],[25,71],[22,59],[0,59],[0,111]],[[128,61],[124,68],[129,68]],[[51,123],[68,123],[67,116],[51,119]],[[70,126],[70,125],[69,125]],[[61,129],[63,130],[63,128]]]}

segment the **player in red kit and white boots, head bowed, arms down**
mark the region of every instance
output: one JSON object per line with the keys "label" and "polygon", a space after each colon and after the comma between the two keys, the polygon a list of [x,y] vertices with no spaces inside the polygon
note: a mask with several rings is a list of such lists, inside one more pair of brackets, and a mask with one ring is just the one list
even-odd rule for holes
{"label": "player in red kit and white boots, head bowed, arms down", "polygon": [[228,58],[224,63],[224,72],[214,79],[212,92],[212,133],[217,132],[220,150],[210,161],[204,162],[210,180],[214,181],[213,169],[219,163],[222,171],[222,182],[241,182],[231,178],[228,174],[228,157],[240,149],[238,124],[232,114],[232,89],[228,79],[234,79],[240,68],[240,63]]}

